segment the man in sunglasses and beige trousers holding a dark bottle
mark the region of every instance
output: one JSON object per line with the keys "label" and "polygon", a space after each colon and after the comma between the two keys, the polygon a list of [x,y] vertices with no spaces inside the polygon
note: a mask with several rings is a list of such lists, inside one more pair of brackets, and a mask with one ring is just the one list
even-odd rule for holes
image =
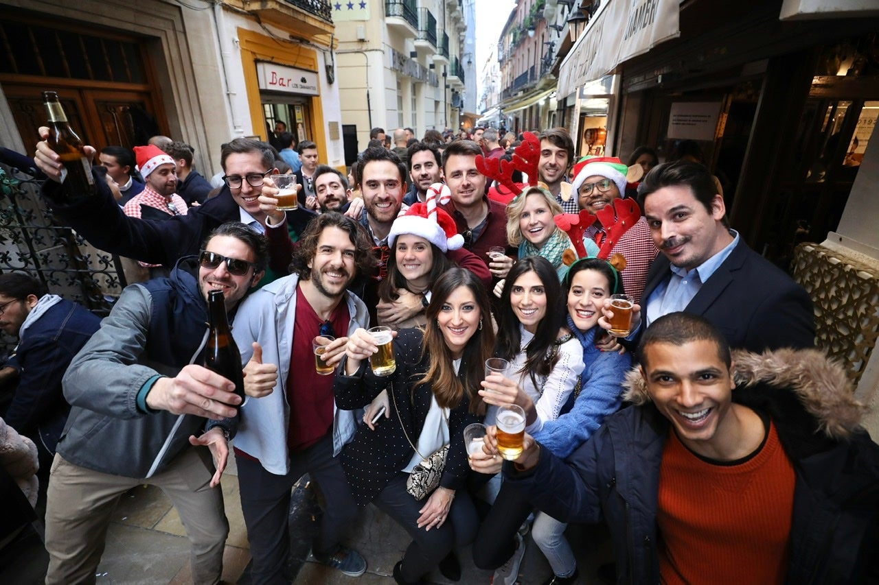
{"label": "man in sunglasses and beige trousers holding a dark bottle", "polygon": [[178,510],[193,581],[220,581],[229,523],[215,488],[241,399],[231,381],[199,365],[207,295],[221,290],[234,313],[264,265],[265,238],[223,224],[170,278],[128,286],[70,363],[71,409],[49,482],[47,583],[94,580],[115,503],[142,484],[161,488]]}

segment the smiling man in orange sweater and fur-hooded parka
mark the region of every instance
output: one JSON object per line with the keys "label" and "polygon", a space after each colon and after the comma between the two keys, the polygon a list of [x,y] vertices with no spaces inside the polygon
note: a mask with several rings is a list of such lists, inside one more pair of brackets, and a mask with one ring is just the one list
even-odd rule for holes
{"label": "smiling man in orange sweater and fur-hooded parka", "polygon": [[685,313],[654,321],[641,355],[636,406],[567,463],[526,436],[505,480],[560,521],[607,521],[620,583],[873,582],[879,445],[841,366],[818,350],[730,357]]}

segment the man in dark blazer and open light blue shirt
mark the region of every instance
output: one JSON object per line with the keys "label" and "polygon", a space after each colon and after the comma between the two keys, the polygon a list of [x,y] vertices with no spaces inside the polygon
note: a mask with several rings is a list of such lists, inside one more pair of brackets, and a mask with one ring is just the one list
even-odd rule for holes
{"label": "man in dark blazer and open light blue shirt", "polygon": [[733,348],[814,346],[809,294],[730,229],[708,169],[683,161],[659,165],[644,178],[638,200],[662,252],[635,307],[639,331],[664,314],[686,311],[711,321]]}

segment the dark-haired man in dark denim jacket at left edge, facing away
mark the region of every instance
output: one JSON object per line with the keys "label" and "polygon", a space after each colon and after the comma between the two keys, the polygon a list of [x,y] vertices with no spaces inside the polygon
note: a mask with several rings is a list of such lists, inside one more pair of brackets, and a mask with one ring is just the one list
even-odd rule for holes
{"label": "dark-haired man in dark denim jacket at left edge, facing away", "polygon": [[61,380],[70,360],[98,330],[100,322],[84,307],[49,294],[46,285],[30,275],[0,274],[0,329],[18,336],[18,346],[6,362],[18,376],[18,386],[4,421],[37,445],[38,506],[46,495],[55,444],[70,410]]}

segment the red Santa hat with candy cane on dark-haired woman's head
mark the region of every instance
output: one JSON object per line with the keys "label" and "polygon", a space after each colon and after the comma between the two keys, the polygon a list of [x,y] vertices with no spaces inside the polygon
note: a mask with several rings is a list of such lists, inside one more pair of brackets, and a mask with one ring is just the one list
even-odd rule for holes
{"label": "red Santa hat with candy cane on dark-haired woman's head", "polygon": [[437,207],[439,203],[445,203],[450,195],[445,184],[434,183],[427,190],[427,202],[420,201],[410,206],[405,214],[394,220],[388,235],[389,247],[394,246],[397,235],[418,235],[434,246],[447,252],[450,249],[460,249],[464,245],[464,236],[458,233],[452,216]]}

